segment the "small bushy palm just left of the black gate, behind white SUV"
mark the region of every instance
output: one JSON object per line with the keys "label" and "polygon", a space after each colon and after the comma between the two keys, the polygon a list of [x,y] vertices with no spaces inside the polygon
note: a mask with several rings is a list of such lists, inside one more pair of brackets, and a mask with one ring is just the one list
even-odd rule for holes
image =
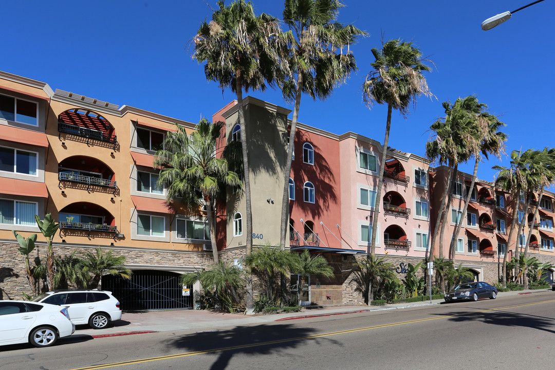
{"label": "small bushy palm just left of the black gate, behind white SUV", "polygon": [[95,289],[101,287],[102,276],[110,274],[122,277],[124,279],[131,278],[132,272],[129,268],[123,266],[125,256],[116,256],[113,250],[103,252],[102,248],[97,247],[94,252],[87,251],[83,255],[83,272],[92,280],[88,281],[88,288]]}

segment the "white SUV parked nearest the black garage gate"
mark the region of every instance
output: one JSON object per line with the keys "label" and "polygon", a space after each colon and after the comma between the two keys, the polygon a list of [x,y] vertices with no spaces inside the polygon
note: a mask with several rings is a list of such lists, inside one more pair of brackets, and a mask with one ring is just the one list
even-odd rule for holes
{"label": "white SUV parked nearest the black garage gate", "polygon": [[112,292],[76,289],[46,292],[33,302],[50,303],[68,308],[69,317],[75,325],[89,325],[93,329],[103,329],[110,322],[122,318],[119,301]]}

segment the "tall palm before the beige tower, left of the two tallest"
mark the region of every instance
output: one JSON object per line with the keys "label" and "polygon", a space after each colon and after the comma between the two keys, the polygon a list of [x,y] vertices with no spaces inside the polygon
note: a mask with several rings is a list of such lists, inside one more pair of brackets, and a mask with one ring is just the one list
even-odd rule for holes
{"label": "tall palm before the beige tower, left of the two tallest", "polygon": [[[264,90],[279,75],[280,49],[278,19],[268,14],[255,16],[253,4],[236,0],[228,7],[223,1],[212,14],[210,23],[203,22],[193,41],[193,58],[204,65],[206,79],[218,82],[221,89],[231,89],[237,96],[245,184],[246,246],[253,247],[253,214],[251,211],[249,158],[243,111],[243,90]],[[253,282],[247,279],[247,310],[254,311]]]}

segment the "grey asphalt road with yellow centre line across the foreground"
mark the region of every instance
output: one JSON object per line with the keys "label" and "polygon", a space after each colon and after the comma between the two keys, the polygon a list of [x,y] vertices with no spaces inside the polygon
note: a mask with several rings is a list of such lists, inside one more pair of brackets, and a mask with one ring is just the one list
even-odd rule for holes
{"label": "grey asphalt road with yellow centre line across the foreground", "polygon": [[0,347],[0,370],[554,368],[555,295]]}

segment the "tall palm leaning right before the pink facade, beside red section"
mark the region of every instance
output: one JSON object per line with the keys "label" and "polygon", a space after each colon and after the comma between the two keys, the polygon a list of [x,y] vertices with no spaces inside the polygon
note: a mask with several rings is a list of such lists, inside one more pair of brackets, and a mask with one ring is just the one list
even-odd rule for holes
{"label": "tall palm leaning right before the pink facade, beside red section", "polygon": [[[382,44],[381,49],[372,49],[376,58],[371,63],[374,70],[366,76],[362,84],[362,99],[370,108],[372,104],[387,104],[387,120],[385,129],[384,146],[380,160],[380,173],[376,189],[376,199],[381,199],[381,190],[384,183],[385,160],[387,155],[387,143],[391,127],[391,112],[398,109],[404,116],[408,113],[411,103],[416,104],[416,98],[420,95],[433,96],[422,72],[429,71],[430,67],[423,64],[422,53],[413,47],[411,42],[401,40],[389,40]],[[372,220],[372,242],[369,255],[376,251],[376,235],[378,215],[380,213],[380,201],[376,201],[374,217]],[[372,295],[370,286],[369,295]]]}

